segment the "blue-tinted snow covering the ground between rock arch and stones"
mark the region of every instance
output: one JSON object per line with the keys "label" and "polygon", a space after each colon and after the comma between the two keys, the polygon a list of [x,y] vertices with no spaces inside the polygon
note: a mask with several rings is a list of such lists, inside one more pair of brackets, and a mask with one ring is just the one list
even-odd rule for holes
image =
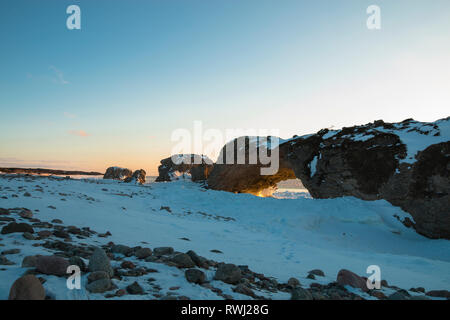
{"label": "blue-tinted snow covering the ground between rock arch and stones", "polygon": [[[37,191],[37,186],[43,191]],[[31,197],[24,196],[25,192]],[[394,217],[410,217],[401,209],[386,201],[352,197],[322,200],[311,199],[306,193],[299,195],[288,190],[279,192],[278,198],[261,198],[205,190],[186,180],[139,186],[99,179],[0,177],[0,208],[25,207],[42,221],[57,218],[65,225],[112,233],[106,239],[87,239],[89,244],[113,241],[137,246],[145,242],[151,248],[194,250],[215,261],[248,265],[252,271],[279,282],[296,277],[306,286],[335,281],[340,269],[365,275],[369,265],[378,265],[382,279],[389,284],[404,289],[450,289],[450,241],[431,240],[406,228]],[[14,247],[21,248],[21,253],[8,255],[16,265],[1,266],[0,299],[7,298],[11,284],[24,273],[25,269],[19,267],[23,257],[42,254],[43,250],[25,245],[30,241],[21,234],[8,236],[0,236],[4,238],[1,243],[6,244],[0,250]],[[213,249],[222,253],[211,252]],[[187,283],[176,268],[160,264],[155,268],[160,271],[154,275],[159,285],[182,286],[183,294],[195,299],[218,298]],[[321,269],[326,276],[306,279],[312,269]],[[169,274],[173,275],[170,284],[166,279]],[[179,280],[173,283],[173,279]],[[44,287],[57,298],[87,298],[85,291],[58,290],[61,283],[50,276]],[[221,288],[237,298],[248,298],[231,292],[229,287]],[[271,297],[289,298],[281,293]]]}

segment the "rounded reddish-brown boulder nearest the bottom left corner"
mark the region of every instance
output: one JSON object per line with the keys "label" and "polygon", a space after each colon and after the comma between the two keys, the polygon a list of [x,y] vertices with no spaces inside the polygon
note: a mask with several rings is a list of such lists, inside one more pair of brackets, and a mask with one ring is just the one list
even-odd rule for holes
{"label": "rounded reddish-brown boulder nearest the bottom left corner", "polygon": [[25,275],[14,281],[8,300],[45,300],[45,289],[34,275]]}

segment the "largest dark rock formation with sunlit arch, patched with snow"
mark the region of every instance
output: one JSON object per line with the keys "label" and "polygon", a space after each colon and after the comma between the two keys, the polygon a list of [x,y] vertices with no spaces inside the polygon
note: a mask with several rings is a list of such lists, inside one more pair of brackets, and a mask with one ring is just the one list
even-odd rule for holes
{"label": "largest dark rock formation with sunlit arch, patched with snow", "polygon": [[260,164],[216,164],[209,188],[258,194],[297,177],[314,198],[385,199],[411,214],[405,225],[430,238],[450,239],[450,117],[366,125],[282,141],[280,170]]}

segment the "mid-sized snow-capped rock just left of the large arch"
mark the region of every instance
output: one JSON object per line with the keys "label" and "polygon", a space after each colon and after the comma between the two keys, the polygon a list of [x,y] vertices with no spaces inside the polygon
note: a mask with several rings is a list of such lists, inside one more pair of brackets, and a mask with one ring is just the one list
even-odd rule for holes
{"label": "mid-sized snow-capped rock just left of the large arch", "polygon": [[212,161],[207,156],[178,154],[161,160],[156,182],[168,182],[179,178],[190,178],[194,182],[208,179]]}

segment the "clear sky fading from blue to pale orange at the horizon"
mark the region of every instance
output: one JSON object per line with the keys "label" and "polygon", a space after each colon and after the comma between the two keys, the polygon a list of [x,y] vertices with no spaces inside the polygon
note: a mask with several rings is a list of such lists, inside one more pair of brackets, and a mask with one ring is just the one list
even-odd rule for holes
{"label": "clear sky fading from blue to pale orange at the horizon", "polygon": [[194,120],[288,138],[450,110],[448,0],[4,0],[0,23],[0,166],[155,173]]}

